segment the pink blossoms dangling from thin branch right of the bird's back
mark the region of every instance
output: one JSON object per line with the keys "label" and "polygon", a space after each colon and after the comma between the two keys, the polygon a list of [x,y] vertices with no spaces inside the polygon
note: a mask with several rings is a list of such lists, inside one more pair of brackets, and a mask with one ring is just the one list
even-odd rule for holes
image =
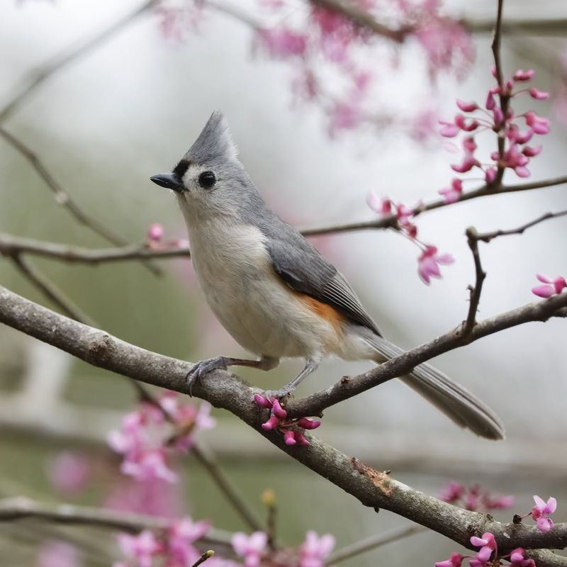
{"label": "pink blossoms dangling from thin branch right of the bird's back", "polygon": [[366,196],[366,204],[378,215],[395,215],[398,230],[420,247],[422,253],[417,258],[417,274],[423,283],[429,285],[432,278],[441,278],[440,266],[454,262],[451,254],[439,254],[437,247],[417,239],[417,225],[412,222],[412,217],[419,206],[410,208],[403,203],[396,204],[388,198],[379,198],[374,191]]}

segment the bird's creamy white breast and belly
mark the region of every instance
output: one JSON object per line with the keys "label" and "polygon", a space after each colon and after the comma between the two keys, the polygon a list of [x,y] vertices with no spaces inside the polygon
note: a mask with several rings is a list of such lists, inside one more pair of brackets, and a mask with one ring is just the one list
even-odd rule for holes
{"label": "bird's creamy white breast and belly", "polygon": [[308,357],[337,340],[332,325],[275,274],[258,228],[218,218],[191,221],[199,283],[210,308],[242,347],[274,358]]}

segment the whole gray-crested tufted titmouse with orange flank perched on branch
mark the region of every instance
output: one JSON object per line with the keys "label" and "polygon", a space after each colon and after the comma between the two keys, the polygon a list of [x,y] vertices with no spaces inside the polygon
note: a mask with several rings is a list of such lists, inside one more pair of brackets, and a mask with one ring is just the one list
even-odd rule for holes
{"label": "whole gray-crested tufted titmouse with orange flank perched on branch", "polygon": [[[281,397],[327,355],[380,363],[403,352],[383,339],[335,266],[266,206],[237,159],[221,113],[210,116],[172,173],[151,180],[175,191],[210,308],[242,347],[259,356],[198,362],[190,384],[213,369],[270,370],[281,358],[305,359],[301,373],[275,393]],[[401,380],[457,425],[488,439],[504,437],[490,408],[429,364]]]}

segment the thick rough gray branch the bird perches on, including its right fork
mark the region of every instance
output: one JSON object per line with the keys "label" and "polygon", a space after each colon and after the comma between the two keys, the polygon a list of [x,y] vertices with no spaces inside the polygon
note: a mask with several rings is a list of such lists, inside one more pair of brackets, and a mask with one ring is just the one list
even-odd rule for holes
{"label": "thick rough gray branch the bird perches on, including its right fork", "polygon": [[[520,322],[545,320],[566,306],[567,293],[526,305],[479,323],[468,340],[518,325]],[[2,287],[0,322],[52,344],[94,366],[155,386],[188,393],[185,377],[192,364],[135,347],[106,332],[58,315]],[[383,378],[386,372],[395,375],[400,369],[398,374],[405,374],[417,361],[425,361],[448,349],[447,340],[440,337],[428,345],[422,345],[391,359],[378,369],[353,378],[353,381],[369,380],[373,375],[381,375]],[[386,371],[381,374],[381,369],[384,368]],[[339,387],[348,388],[348,383]],[[567,546],[567,524],[556,524],[550,532],[541,532],[534,525],[494,522],[485,514],[461,510],[395,481],[388,474],[342,454],[311,435],[309,447],[288,447],[280,434],[262,430],[260,427],[265,415],[252,401],[254,393],[257,392],[257,388],[250,388],[240,378],[226,371],[211,372],[201,384],[193,388],[193,394],[215,407],[229,410],[281,451],[324,476],[366,506],[382,507],[395,512],[468,548],[471,547],[471,535],[481,535],[483,532],[495,534],[502,554],[517,546],[526,549],[563,549]],[[327,391],[319,395],[324,397],[326,393]],[[294,405],[300,407],[307,400],[297,400]],[[313,414],[308,412],[303,415]],[[538,567],[567,566],[567,558],[546,551],[537,551],[537,554],[534,552],[534,556],[536,555]]]}

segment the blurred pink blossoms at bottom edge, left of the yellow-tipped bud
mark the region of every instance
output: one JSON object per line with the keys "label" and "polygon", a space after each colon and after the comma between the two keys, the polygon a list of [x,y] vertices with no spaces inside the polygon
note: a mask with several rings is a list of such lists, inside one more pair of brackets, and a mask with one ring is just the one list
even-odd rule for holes
{"label": "blurred pink blossoms at bottom edge, left of the yellow-tipped bud", "polygon": [[[184,517],[172,522],[161,538],[149,529],[135,536],[118,534],[118,545],[126,561],[114,563],[113,567],[152,567],[154,558],[162,559],[163,567],[189,567],[201,556],[193,544],[209,529],[209,522],[193,522]],[[210,567],[215,563],[215,558],[207,561]]]}

